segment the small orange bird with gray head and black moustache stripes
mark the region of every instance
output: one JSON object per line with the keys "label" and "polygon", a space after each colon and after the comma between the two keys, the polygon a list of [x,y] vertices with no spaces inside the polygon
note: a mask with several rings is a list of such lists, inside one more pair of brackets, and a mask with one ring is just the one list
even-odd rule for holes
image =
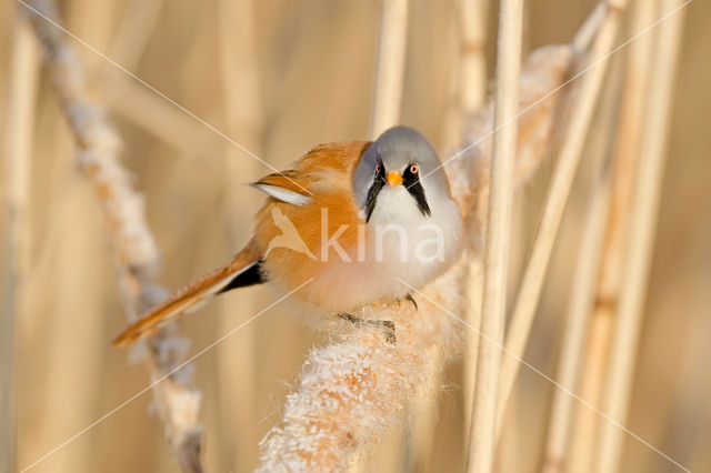
{"label": "small orange bird with gray head and black moustache stripes", "polygon": [[[461,252],[462,217],[432,144],[397,125],[374,141],[318,144],[250,184],[267,194],[247,245],[149,310],[114,341],[130,345],[237,288],[269,282],[319,313],[364,321],[365,304],[409,299]],[[403,281],[407,282],[403,283]],[[298,291],[294,291],[298,288]]]}

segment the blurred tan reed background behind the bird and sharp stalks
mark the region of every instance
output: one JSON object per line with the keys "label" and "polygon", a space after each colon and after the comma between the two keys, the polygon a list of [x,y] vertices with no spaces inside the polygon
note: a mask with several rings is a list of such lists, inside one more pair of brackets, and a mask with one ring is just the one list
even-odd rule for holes
{"label": "blurred tan reed background behind the bird and sharp stalks", "polygon": [[[497,3],[491,2],[483,21],[489,31],[489,79],[494,70]],[[637,2],[631,3],[633,9]],[[540,46],[571,41],[595,4],[528,2],[523,57]],[[380,18],[375,0],[68,0],[59,7],[73,34],[277,169],[287,168],[314,143],[369,134]],[[401,122],[424,132],[442,153],[452,145],[459,8],[454,0],[411,0],[409,6]],[[21,275],[19,281],[6,278],[1,292],[3,311],[16,308],[12,324],[3,318],[0,335],[3,349],[14,345],[10,388],[17,436],[6,449],[14,449],[16,465],[8,471],[34,462],[149,383],[142,366],[128,363],[127,352],[109,344],[126,319],[106,224],[91,189],[77,172],[72,138],[42,73],[37,41],[18,21],[19,10],[22,6],[13,1],[0,4],[6,32],[0,36],[0,130],[6,130],[2,263],[3,269],[18,268]],[[688,10],[624,425],[691,471],[711,471],[711,4],[695,1]],[[640,29],[630,17],[623,17],[618,43]],[[160,282],[178,289],[248,240],[262,197],[243,183],[270,170],[94,52],[79,44],[77,50],[94,100],[107,107],[121,134],[124,165],[146,197],[148,222],[163,256]],[[610,60],[524,356],[552,378],[580,256],[591,174],[599,154],[614,145],[609,139],[614,124],[605,123],[615,115],[610,109],[630,93],[615,83],[624,77],[631,50]],[[6,165],[13,155],[28,160],[20,169]],[[535,234],[551,169],[544,164],[517,194],[512,294]],[[27,187],[18,189],[10,175]],[[18,195],[26,220],[8,225],[12,215],[7,209]],[[269,289],[252,288],[184,318],[182,333],[192,342],[190,353],[272,301]],[[194,362],[194,383],[203,395],[207,471],[241,472],[257,465],[258,442],[280,419],[307,351],[327,340],[287,305],[270,310]],[[11,352],[2,350],[3,383]],[[431,454],[423,455],[421,471],[464,467],[461,372],[461,362],[455,362],[444,373]],[[521,369],[502,426],[498,471],[541,469],[554,390],[539,374]],[[32,471],[177,471],[160,422],[148,415],[150,399],[136,399]],[[578,402],[573,407],[585,410]],[[0,429],[0,439],[12,439],[2,436],[11,431],[8,425]],[[368,467],[402,471],[403,437],[394,432]],[[573,431],[571,437],[574,444],[584,436]],[[625,434],[621,471],[675,467]]]}

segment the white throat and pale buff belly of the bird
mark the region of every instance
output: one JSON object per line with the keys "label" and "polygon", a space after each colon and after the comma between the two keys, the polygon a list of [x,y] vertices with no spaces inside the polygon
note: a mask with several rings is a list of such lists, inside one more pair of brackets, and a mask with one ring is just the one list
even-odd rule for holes
{"label": "white throat and pale buff belly of the bird", "polygon": [[[425,188],[427,193],[427,188]],[[422,214],[402,187],[385,187],[364,225],[364,249],[349,248],[349,261],[330,261],[321,278],[321,306],[348,312],[377,300],[402,299],[442,274],[459,254],[462,220],[448,195],[427,194]],[[404,282],[402,282],[404,281]]]}

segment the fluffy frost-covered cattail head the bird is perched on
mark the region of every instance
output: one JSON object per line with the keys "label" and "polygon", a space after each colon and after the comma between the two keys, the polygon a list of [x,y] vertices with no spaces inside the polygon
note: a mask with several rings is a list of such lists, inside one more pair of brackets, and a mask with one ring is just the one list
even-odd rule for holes
{"label": "fluffy frost-covered cattail head the bird is perched on", "polygon": [[[519,118],[518,155],[525,159],[518,164],[525,164],[517,168],[518,184],[525,181],[533,162],[544,155],[558,98],[550,97],[531,107],[563,82],[570,60],[570,47],[547,47],[534,51],[522,71],[519,107],[530,111]],[[468,145],[447,167],[452,195],[470,230],[470,245],[480,234],[478,205],[488,195],[491,110],[488,108],[468,123],[467,144],[478,144]],[[462,313],[460,281],[469,264],[463,259],[422,293],[453,313]],[[418,386],[439,376],[439,372],[429,371],[432,364],[428,363],[427,353],[439,346],[444,362],[460,354],[462,329],[441,309],[417,299],[419,311],[413,311],[410,303],[363,310],[365,318],[391,319],[395,323],[394,345],[380,331],[347,324],[337,326],[343,332],[334,333],[333,344],[311,351],[299,385],[287,397],[280,424],[260,444],[261,471],[343,470],[353,456],[367,455],[368,447],[382,439],[388,426],[402,425],[412,405],[433,402],[415,399]]]}

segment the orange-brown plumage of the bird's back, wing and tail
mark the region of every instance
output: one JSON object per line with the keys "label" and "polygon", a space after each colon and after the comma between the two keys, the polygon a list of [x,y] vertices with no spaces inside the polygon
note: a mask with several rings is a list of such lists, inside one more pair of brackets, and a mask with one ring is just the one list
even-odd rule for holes
{"label": "orange-brown plumage of the bird's back, wing and tail", "polygon": [[[230,276],[256,262],[262,262],[262,271],[267,279],[278,270],[282,275],[281,283],[286,286],[299,286],[318,275],[327,264],[321,258],[314,260],[287,248],[276,248],[269,252],[269,258],[264,258],[269,242],[280,234],[271,212],[279,208],[299,229],[299,234],[311,253],[320,255],[321,212],[322,209],[328,209],[328,234],[331,235],[341,225],[347,225],[339,241],[343,246],[352,245],[358,239],[357,227],[361,222],[351,193],[350,174],[370,143],[352,141],[320,144],[299,159],[294,169],[269,174],[257,181],[256,185],[274,185],[303,195],[311,193],[311,202],[299,207],[269,198],[257,214],[254,238],[242,251],[216,271],[180,290],[161,305],[142,315],[121,333],[113,344],[126,346],[154,333],[172,318],[218,294],[222,289],[220,284],[229,283]],[[317,296],[309,294],[309,289],[304,288],[307,300]]]}

